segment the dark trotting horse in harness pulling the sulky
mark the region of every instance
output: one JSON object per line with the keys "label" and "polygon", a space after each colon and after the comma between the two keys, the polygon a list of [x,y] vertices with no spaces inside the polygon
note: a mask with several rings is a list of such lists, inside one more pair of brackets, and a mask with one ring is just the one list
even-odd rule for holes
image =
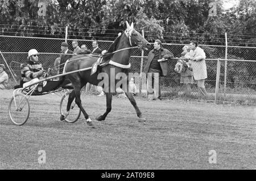
{"label": "dark trotting horse in harness pulling the sulky", "polygon": [[[111,73],[113,74],[114,72],[114,77],[118,73],[124,73],[126,76],[125,78],[126,87],[128,87],[129,78],[127,77],[128,77],[128,68],[130,67],[129,59],[131,56],[131,49],[134,47],[138,47],[138,48],[147,50],[150,47],[150,44],[146,39],[144,39],[144,37],[139,32],[137,32],[133,28],[133,23],[131,23],[131,26],[130,26],[129,23],[126,22],[126,26],[127,26],[127,29],[125,30],[125,32],[123,32],[121,36],[115,39],[114,43],[110,46],[108,53],[103,56],[101,65],[102,64],[105,64],[105,65],[100,66],[98,68],[98,72],[91,75],[91,70],[85,70],[85,71],[80,71],[79,73],[66,75],[69,81],[71,81],[72,86],[74,87],[74,90],[71,92],[71,94],[69,94],[68,104],[67,104],[67,113],[60,116],[61,120],[64,120],[68,116],[71,103],[76,98],[75,102],[77,106],[79,106],[82,113],[84,114],[86,123],[88,125],[92,125],[92,120],[89,118],[88,114],[85,112],[84,108],[82,107],[81,99],[80,99],[80,91],[82,87],[84,87],[88,82],[93,85],[98,85],[98,83],[102,81],[102,79],[98,79],[98,73],[104,73],[108,75],[107,77],[109,82],[110,82],[110,78],[113,77],[113,75],[110,75]],[[72,57],[66,63],[64,70],[66,73],[68,73],[69,71],[90,68],[97,60],[98,60],[98,57],[94,57],[90,55],[88,56],[77,55]],[[117,83],[116,80],[114,80],[114,82]],[[115,83],[114,83],[114,86],[115,86]],[[113,87],[111,88],[111,86],[106,86],[106,85],[103,85],[102,87],[104,87],[104,91],[106,94],[106,112],[103,115],[96,117],[96,120],[98,121],[105,120],[106,116],[112,109]],[[146,119],[142,116],[141,111],[139,111],[139,108],[133,97],[133,94],[126,90],[124,91],[127,98],[130,100],[131,104],[135,108],[137,116],[139,117],[139,121],[146,121]]]}

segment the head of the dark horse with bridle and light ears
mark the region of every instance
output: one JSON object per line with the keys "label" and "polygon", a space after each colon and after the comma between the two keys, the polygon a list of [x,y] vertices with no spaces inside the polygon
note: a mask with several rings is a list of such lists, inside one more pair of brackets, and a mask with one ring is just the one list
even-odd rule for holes
{"label": "head of the dark horse with bridle and light ears", "polygon": [[127,37],[129,38],[131,47],[138,46],[139,48],[143,50],[148,50],[150,48],[150,43],[144,37],[134,29],[133,23],[131,23],[131,26],[128,22],[126,22],[127,29],[125,30],[125,33]]}

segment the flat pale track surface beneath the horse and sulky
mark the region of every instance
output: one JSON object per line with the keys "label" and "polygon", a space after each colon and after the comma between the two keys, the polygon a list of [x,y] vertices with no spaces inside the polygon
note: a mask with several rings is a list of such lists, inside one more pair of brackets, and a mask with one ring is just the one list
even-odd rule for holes
{"label": "flat pale track surface beneath the horse and sulky", "polygon": [[31,97],[30,118],[16,126],[7,114],[11,96],[0,91],[0,169],[256,169],[255,107],[136,97],[142,124],[129,100],[115,96],[98,122],[105,96],[83,95],[90,128],[82,115],[74,124],[59,121],[60,98],[49,94]]}

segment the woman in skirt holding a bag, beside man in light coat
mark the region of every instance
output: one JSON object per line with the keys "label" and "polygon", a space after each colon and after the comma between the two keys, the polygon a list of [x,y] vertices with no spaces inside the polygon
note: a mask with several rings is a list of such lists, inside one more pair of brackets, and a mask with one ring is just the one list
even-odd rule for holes
{"label": "woman in skirt holding a bag, beside man in light coat", "polygon": [[193,83],[193,72],[192,72],[192,62],[190,59],[192,59],[190,55],[190,49],[188,45],[185,45],[183,48],[183,52],[181,52],[180,59],[177,60],[177,64],[175,65],[175,71],[177,73],[180,73],[180,83],[184,83],[185,92],[186,94],[191,94],[191,84]]}

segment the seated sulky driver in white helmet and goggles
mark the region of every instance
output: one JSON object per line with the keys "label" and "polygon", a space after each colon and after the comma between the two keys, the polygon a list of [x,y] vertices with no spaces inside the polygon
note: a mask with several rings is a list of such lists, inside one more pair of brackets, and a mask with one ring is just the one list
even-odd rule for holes
{"label": "seated sulky driver in white helmet and goggles", "polygon": [[[22,77],[22,87],[27,87],[33,83],[39,81],[40,77],[43,77],[44,71],[42,64],[38,62],[38,51],[36,49],[31,49],[28,51],[27,62],[20,65],[21,77]],[[30,87],[34,89],[36,85]]]}

